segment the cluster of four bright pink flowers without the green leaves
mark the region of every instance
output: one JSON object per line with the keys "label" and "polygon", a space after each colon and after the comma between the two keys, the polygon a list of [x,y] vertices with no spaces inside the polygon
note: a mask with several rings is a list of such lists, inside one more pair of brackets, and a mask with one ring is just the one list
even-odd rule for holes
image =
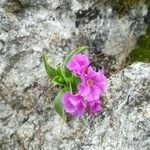
{"label": "cluster of four bright pink flowers without the green leaves", "polygon": [[101,112],[100,95],[107,89],[103,69],[96,72],[83,54],[73,56],[66,66],[80,79],[80,83],[76,93],[66,91],[62,96],[65,111],[74,116],[82,116],[85,111],[89,114]]}

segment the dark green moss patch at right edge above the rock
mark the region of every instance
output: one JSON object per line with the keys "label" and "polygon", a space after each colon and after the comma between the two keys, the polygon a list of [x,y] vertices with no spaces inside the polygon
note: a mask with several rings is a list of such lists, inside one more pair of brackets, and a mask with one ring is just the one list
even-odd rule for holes
{"label": "dark green moss patch at right edge above the rock", "polygon": [[139,38],[137,48],[132,50],[128,61],[150,62],[150,25],[147,27],[146,34]]}

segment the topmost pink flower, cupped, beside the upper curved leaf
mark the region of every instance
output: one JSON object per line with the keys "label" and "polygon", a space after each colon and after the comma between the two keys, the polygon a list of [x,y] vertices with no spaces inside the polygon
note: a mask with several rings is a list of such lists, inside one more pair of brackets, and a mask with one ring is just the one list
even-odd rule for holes
{"label": "topmost pink flower, cupped, beside the upper curved leaf", "polygon": [[89,64],[90,61],[86,55],[77,54],[68,62],[67,68],[74,74],[80,76]]}

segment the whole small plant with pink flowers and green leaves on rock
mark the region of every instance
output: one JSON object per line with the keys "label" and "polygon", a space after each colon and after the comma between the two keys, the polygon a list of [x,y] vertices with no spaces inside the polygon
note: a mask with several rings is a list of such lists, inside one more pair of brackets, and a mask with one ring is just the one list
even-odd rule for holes
{"label": "whole small plant with pink flowers and green leaves on rock", "polygon": [[66,114],[81,117],[102,112],[101,94],[107,90],[104,69],[95,71],[87,55],[81,54],[87,47],[80,47],[68,55],[65,61],[52,67],[47,55],[43,55],[48,77],[60,92],[54,99],[55,111],[66,120]]}

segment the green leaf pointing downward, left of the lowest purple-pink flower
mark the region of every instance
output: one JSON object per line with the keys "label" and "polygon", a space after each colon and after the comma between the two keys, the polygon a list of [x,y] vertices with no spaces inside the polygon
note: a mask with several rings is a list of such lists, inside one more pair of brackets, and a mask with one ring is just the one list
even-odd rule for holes
{"label": "green leaf pointing downward, left of the lowest purple-pink flower", "polygon": [[54,108],[55,108],[55,111],[64,119],[66,120],[66,116],[65,116],[65,112],[64,112],[64,109],[63,109],[63,106],[62,106],[62,103],[61,103],[61,97],[63,96],[64,94],[64,91],[60,91],[58,93],[58,95],[55,97],[54,99]]}

